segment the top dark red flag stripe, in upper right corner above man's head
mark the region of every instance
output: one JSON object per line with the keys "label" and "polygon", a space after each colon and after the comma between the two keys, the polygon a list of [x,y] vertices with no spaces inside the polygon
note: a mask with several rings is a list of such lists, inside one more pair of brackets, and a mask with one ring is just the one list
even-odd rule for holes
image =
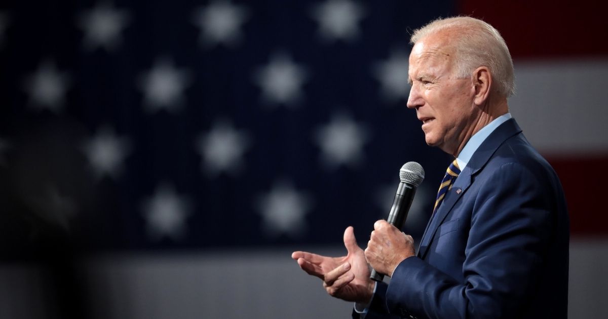
{"label": "top dark red flag stripe, in upper right corner above man's head", "polygon": [[608,55],[603,1],[460,0],[458,11],[496,27],[513,58]]}

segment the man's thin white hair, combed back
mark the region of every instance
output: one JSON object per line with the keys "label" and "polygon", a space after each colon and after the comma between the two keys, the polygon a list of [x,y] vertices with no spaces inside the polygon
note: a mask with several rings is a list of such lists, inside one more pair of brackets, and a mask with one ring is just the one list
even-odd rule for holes
{"label": "man's thin white hair, combed back", "polygon": [[410,42],[416,44],[420,39],[444,30],[455,31],[450,42],[456,50],[454,61],[459,78],[471,77],[477,67],[486,66],[499,94],[510,97],[515,93],[513,60],[505,39],[482,20],[469,16],[440,18],[414,30]]}

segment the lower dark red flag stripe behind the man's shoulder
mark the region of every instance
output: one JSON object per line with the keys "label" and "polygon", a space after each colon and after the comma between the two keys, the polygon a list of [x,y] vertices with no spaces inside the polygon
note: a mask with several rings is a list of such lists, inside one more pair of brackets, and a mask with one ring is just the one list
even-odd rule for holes
{"label": "lower dark red flag stripe behind the man's shoulder", "polygon": [[564,188],[572,235],[608,235],[608,155],[548,160]]}

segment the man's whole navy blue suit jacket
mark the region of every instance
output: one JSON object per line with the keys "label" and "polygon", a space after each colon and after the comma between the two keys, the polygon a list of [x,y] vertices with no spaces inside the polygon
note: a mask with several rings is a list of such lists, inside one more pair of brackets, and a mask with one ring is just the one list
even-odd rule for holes
{"label": "man's whole navy blue suit jacket", "polygon": [[566,318],[568,241],[559,179],[508,120],[455,180],[418,256],[378,284],[365,319]]}

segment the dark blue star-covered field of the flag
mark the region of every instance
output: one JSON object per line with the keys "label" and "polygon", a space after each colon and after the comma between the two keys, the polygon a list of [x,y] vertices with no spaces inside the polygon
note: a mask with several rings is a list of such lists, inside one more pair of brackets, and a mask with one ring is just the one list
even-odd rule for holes
{"label": "dark blue star-covered field of the flag", "polygon": [[451,12],[16,2],[2,12],[9,205],[85,252],[325,244],[385,217],[416,160],[428,215],[449,159],[405,107],[408,31]]}

